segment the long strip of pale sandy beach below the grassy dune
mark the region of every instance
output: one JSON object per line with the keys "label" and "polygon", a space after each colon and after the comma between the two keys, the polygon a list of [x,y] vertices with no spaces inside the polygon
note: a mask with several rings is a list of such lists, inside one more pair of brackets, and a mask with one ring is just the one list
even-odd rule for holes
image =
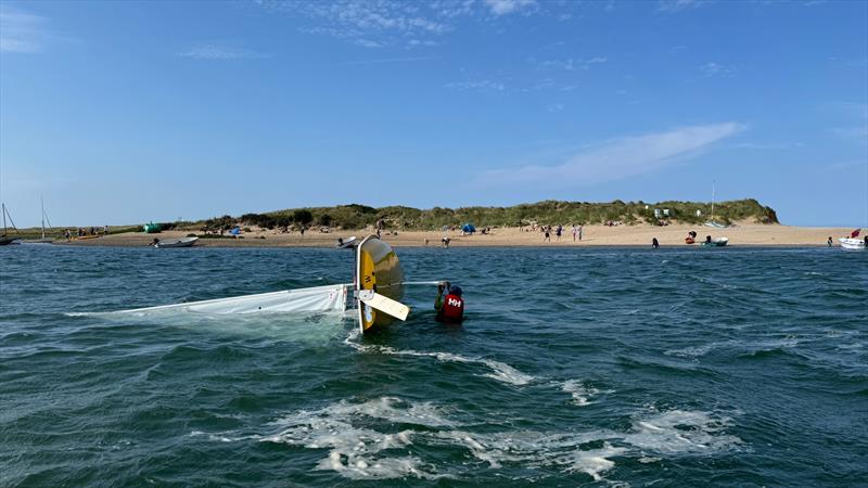
{"label": "long strip of pale sandy beach below the grassy dune", "polygon": [[[585,226],[582,241],[573,241],[570,228],[564,228],[560,240],[552,233],[551,242],[544,241],[539,231],[527,231],[519,228],[493,229],[490,234],[460,235],[458,231],[391,231],[383,232],[382,239],[396,247],[441,246],[441,239],[450,237],[451,247],[496,247],[496,246],[650,246],[656,237],[662,247],[687,247],[685,237],[689,231],[705,235],[729,237],[730,246],[826,246],[829,236],[838,246],[838,237],[846,236],[852,229],[845,228],[807,228],[779,224],[739,224],[726,229],[710,227],[674,224],[667,227],[650,226]],[[330,233],[308,231],[304,235],[297,232],[277,233],[275,231],[255,231],[243,234],[244,239],[200,239],[197,246],[208,247],[334,247],[337,237],[350,235],[363,236],[373,233],[373,229],[341,230]],[[58,241],[58,245],[75,246],[146,246],[154,237],[175,239],[190,234],[190,231],[167,231],[158,234],[122,233],[87,239],[80,241]]]}

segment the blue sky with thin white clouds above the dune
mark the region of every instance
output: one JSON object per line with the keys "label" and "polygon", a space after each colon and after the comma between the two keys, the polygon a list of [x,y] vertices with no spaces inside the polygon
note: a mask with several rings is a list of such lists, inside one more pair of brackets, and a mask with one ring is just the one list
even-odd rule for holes
{"label": "blue sky with thin white clouds above the dune", "polygon": [[868,2],[0,2],[20,227],[712,181],[868,227]]}

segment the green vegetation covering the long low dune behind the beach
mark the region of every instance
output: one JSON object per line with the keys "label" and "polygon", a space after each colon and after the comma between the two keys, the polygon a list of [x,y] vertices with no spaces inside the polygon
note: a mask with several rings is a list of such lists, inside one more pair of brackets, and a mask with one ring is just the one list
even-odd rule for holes
{"label": "green vegetation covering the long low dune behind the beach", "polygon": [[[661,211],[660,218],[654,209]],[[668,209],[665,217],[663,210]],[[700,210],[700,215],[697,215]],[[459,226],[472,222],[476,227],[526,226],[531,223],[570,226],[573,223],[655,224],[661,220],[673,223],[702,223],[711,219],[711,203],[676,202],[660,203],[622,202],[587,203],[545,201],[512,207],[461,207],[419,209],[405,206],[381,208],[350,204],[334,207],[290,208],[266,214],[244,214],[240,217],[222,216],[199,222],[169,224],[189,229],[228,229],[233,226],[256,226],[266,229],[330,226],[342,229],[361,229],[383,220],[390,229],[436,230],[443,226]],[[778,223],[770,207],[753,198],[719,202],[714,207],[714,219],[722,223],[749,221]]]}

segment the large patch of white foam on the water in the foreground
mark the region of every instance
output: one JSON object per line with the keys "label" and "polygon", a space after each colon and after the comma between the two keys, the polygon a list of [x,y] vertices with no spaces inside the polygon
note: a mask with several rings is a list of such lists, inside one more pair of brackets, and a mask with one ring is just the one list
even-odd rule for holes
{"label": "large patch of white foam on the water in the foreground", "polygon": [[[315,470],[333,471],[350,479],[475,478],[482,467],[550,467],[585,473],[599,481],[615,467],[617,458],[651,463],[664,458],[720,454],[742,445],[740,438],[726,433],[731,419],[704,411],[643,410],[637,412],[626,432],[478,433],[464,429],[471,424],[450,418],[452,411],[395,397],[340,400],[319,410],[289,413],[269,423],[272,432],[267,435],[190,435],[219,442],[255,439],[324,449],[328,454]],[[464,449],[477,462],[437,464],[423,459],[438,447]]]}

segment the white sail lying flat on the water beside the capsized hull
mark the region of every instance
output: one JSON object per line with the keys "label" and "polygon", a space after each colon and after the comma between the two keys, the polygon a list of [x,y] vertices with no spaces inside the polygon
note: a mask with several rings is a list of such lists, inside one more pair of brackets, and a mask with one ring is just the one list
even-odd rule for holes
{"label": "white sail lying flat on the water beside the capsized hull", "polygon": [[315,286],[231,298],[163,305],[159,307],[136,308],[111,313],[146,314],[164,311],[209,314],[343,312],[346,310],[346,290],[347,285],[345,284]]}

